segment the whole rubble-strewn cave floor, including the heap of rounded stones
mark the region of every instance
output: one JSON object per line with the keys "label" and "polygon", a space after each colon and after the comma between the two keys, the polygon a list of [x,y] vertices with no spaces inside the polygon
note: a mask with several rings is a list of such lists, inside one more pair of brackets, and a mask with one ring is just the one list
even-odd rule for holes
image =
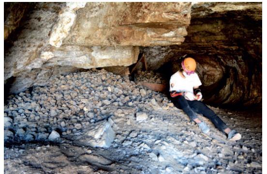
{"label": "whole rubble-strewn cave floor, including the heap of rounded stones", "polygon": [[262,111],[210,108],[241,133],[240,141],[226,140],[200,116],[211,127],[202,134],[166,95],[128,77],[105,70],[60,76],[9,96],[4,172],[262,173]]}

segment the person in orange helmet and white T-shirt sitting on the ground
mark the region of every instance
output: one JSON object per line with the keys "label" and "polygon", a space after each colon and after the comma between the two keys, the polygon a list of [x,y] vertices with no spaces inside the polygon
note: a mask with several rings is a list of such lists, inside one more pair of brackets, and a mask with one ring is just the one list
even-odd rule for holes
{"label": "person in orange helmet and white T-shirt sitting on the ground", "polygon": [[202,83],[195,73],[195,60],[191,57],[185,58],[181,66],[182,71],[176,72],[170,79],[170,95],[174,105],[182,109],[191,120],[197,123],[203,133],[208,133],[210,129],[204,121],[198,118],[196,113],[203,114],[203,116],[207,117],[215,127],[227,134],[229,140],[240,140],[240,133],[236,130],[231,130],[214,111],[200,101],[202,93],[199,86]]}

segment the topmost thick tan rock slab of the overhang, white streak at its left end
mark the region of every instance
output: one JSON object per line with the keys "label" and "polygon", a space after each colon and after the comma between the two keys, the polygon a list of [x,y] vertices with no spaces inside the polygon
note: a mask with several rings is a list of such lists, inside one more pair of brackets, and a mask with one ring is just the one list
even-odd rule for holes
{"label": "topmost thick tan rock slab of the overhang, white streak at its left end", "polygon": [[[187,35],[191,3],[88,2],[77,11],[65,43],[87,46],[179,45]],[[63,43],[64,43],[63,42]]]}

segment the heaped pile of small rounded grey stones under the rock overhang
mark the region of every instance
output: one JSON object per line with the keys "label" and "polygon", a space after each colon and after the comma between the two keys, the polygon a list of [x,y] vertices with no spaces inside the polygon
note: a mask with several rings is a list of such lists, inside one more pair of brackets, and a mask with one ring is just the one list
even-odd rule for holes
{"label": "heaped pile of small rounded grey stones under the rock overhang", "polygon": [[45,86],[8,97],[4,142],[43,142],[80,135],[82,127],[106,119],[113,111],[138,109],[151,97],[162,98],[159,95],[104,69],[50,79]]}

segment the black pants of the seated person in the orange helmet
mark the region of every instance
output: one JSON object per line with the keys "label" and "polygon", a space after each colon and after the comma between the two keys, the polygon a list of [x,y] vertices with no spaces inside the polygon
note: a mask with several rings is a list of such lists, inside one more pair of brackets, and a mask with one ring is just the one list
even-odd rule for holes
{"label": "black pants of the seated person in the orange helmet", "polygon": [[203,116],[207,117],[215,125],[215,127],[217,127],[222,132],[224,132],[224,130],[227,128],[223,120],[221,120],[214,111],[209,109],[208,106],[201,101],[186,100],[184,96],[179,95],[177,97],[172,98],[172,102],[177,108],[182,109],[191,120],[198,118],[195,114],[196,112],[198,114],[203,114]]}

